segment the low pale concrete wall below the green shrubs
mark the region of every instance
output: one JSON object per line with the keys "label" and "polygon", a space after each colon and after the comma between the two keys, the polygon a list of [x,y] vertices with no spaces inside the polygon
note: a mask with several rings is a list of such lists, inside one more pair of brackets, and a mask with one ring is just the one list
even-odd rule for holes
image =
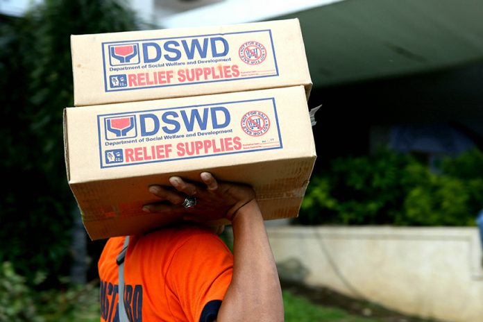
{"label": "low pale concrete wall below the green shrubs", "polygon": [[392,310],[483,321],[477,228],[267,225],[279,273]]}

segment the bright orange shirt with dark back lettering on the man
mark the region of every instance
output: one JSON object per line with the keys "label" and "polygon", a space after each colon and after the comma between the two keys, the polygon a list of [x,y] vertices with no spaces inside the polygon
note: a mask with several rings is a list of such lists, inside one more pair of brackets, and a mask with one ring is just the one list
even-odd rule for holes
{"label": "bright orange shirt with dark back lettering on the man", "polygon": [[[110,238],[99,259],[101,322],[119,321],[116,257],[124,239]],[[207,312],[219,309],[232,270],[232,253],[205,228],[185,225],[131,236],[124,261],[128,317],[131,322],[203,321]]]}

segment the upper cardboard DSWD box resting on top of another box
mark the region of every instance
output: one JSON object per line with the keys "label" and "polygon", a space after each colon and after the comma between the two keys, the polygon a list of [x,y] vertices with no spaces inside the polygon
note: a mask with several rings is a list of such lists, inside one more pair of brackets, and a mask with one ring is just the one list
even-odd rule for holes
{"label": "upper cardboard DSWD box resting on top of another box", "polygon": [[71,35],[74,105],[312,87],[298,19]]}

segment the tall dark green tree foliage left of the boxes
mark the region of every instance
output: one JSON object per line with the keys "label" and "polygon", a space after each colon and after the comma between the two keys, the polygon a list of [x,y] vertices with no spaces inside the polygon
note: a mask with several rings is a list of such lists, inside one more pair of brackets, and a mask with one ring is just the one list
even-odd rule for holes
{"label": "tall dark green tree foliage left of the boxes", "polygon": [[0,198],[0,262],[29,280],[37,270],[68,272],[76,205],[62,138],[62,110],[73,104],[70,36],[136,28],[135,14],[115,0],[46,0],[0,20],[0,167],[11,178]]}

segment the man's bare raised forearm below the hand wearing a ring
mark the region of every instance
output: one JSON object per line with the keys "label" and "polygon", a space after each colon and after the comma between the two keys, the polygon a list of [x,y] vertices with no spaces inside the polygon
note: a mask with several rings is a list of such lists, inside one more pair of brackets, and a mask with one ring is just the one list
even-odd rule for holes
{"label": "man's bare raised forearm below the hand wearing a ring", "polygon": [[217,321],[283,321],[283,301],[275,260],[256,201],[232,221],[234,266]]}

